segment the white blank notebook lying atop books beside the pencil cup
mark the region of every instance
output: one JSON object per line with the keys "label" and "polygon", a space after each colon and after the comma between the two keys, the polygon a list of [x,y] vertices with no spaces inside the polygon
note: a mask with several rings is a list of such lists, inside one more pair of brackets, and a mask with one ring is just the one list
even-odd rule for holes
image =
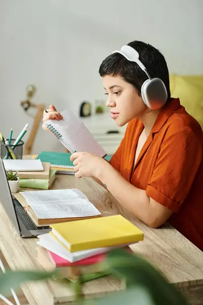
{"label": "white blank notebook lying atop books beside the pencil cup", "polygon": [[8,159],[3,160],[6,170],[13,171],[43,171],[44,167],[41,160],[21,160],[21,159]]}

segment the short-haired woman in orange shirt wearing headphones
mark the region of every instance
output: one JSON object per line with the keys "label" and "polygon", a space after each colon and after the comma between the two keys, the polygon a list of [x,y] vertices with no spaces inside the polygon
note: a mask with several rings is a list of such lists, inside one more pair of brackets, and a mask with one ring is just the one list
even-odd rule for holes
{"label": "short-haired woman in orange shirt wearing headphones", "polygon": [[[122,52],[99,68],[112,119],[118,126],[128,123],[125,136],[110,163],[86,152],[72,154],[76,177],[98,178],[135,217],[153,228],[167,221],[203,250],[202,130],[179,99],[171,98],[163,55],[140,41],[128,46],[137,50],[147,73]],[[154,110],[141,95],[147,74],[161,79],[167,93]],[[54,106],[47,111],[44,121],[62,119]]]}

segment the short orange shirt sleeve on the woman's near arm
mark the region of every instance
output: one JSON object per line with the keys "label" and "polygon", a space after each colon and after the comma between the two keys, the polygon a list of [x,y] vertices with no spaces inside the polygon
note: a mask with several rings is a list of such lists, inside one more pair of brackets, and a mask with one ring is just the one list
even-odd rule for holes
{"label": "short orange shirt sleeve on the woman's near arm", "polygon": [[146,194],[177,212],[187,197],[202,161],[202,144],[188,127],[172,132],[161,144]]}

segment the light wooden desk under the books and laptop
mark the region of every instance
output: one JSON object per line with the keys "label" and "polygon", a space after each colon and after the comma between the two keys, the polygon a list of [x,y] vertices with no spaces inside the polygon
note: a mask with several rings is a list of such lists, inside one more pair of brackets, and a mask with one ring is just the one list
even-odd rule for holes
{"label": "light wooden desk under the books and laptop", "polygon": [[[170,225],[151,229],[133,219],[104,187],[91,178],[57,175],[52,189],[78,188],[104,215],[122,214],[145,234],[144,241],[132,247],[159,268],[171,283],[187,296],[189,303],[202,304],[203,253]],[[16,233],[0,205],[0,248],[12,269],[40,269],[36,262],[36,238],[23,239]],[[99,297],[108,291],[121,289],[121,284],[110,277],[98,279],[84,286],[86,297]],[[22,285],[30,305],[67,304],[74,299],[67,284],[56,281],[32,282]]]}

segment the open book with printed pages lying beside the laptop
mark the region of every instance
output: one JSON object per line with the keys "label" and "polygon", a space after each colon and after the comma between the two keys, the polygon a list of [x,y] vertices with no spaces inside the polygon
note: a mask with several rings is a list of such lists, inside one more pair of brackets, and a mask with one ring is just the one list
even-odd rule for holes
{"label": "open book with printed pages lying beside the laptop", "polygon": [[14,196],[37,226],[101,216],[78,189],[20,192]]}

